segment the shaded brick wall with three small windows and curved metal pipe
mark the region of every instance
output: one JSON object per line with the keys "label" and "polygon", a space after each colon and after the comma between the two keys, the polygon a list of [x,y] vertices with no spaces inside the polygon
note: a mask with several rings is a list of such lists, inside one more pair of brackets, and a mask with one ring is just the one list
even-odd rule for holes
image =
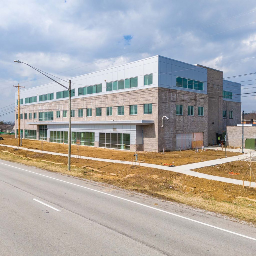
{"label": "shaded brick wall with three small windows and curved metal pipe", "polygon": [[[176,91],[159,88],[158,105],[158,151],[176,150],[176,133],[204,133],[204,145],[207,145],[207,94]],[[183,115],[176,115],[176,104],[183,105]],[[188,116],[188,106],[194,106],[194,116]],[[198,116],[198,106],[204,107],[204,116]],[[162,128],[162,117],[164,127]]]}

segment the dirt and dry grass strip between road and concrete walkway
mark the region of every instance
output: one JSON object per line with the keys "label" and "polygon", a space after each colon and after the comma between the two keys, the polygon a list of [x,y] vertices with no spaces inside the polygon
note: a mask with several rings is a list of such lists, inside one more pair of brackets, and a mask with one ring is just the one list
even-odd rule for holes
{"label": "dirt and dry grass strip between road and concrete walkway", "polygon": [[[9,151],[16,156],[3,151]],[[4,146],[0,146],[0,152],[0,158],[7,161],[111,184],[256,224],[255,188],[243,188],[239,185],[191,177],[161,169],[139,168],[75,158],[71,158],[71,164],[75,166],[71,166],[71,171],[67,171],[67,157],[15,150]],[[40,159],[45,161],[50,159],[52,162],[62,164],[43,162]]]}

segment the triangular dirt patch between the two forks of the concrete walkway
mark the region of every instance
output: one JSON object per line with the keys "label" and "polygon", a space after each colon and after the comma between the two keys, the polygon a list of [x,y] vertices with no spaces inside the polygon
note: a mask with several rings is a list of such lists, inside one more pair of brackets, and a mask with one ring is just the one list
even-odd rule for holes
{"label": "triangular dirt patch between the two forks of the concrete walkway", "polygon": [[[221,176],[231,179],[240,179],[249,181],[250,178],[250,171],[248,170],[249,166],[246,161],[234,161],[226,164],[218,164],[215,166],[207,166],[198,169],[193,169],[195,172],[205,173],[215,176]],[[251,163],[251,168],[253,169],[252,172],[254,176],[256,174],[256,162]],[[229,174],[229,173],[236,173],[236,174]],[[256,176],[255,176],[256,178]],[[253,175],[251,174],[251,181],[255,182]]]}

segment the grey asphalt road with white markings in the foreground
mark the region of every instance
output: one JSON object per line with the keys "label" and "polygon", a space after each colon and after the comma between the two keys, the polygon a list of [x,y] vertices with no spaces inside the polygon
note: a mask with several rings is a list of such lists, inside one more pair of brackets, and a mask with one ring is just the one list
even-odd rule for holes
{"label": "grey asphalt road with white markings in the foreground", "polygon": [[253,227],[0,160],[1,256],[241,256],[255,249]]}

